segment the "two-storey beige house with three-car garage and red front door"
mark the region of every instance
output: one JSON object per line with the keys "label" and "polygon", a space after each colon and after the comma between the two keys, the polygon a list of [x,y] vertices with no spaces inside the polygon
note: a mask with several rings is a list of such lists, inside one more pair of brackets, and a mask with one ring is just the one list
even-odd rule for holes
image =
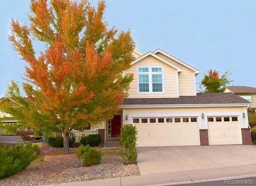
{"label": "two-storey beige house with three-car garage and red front door", "polygon": [[196,93],[200,71],[161,49],[133,54],[124,72],[134,74],[129,96],[112,119],[97,126],[105,141],[132,124],[137,146],[251,144],[250,101],[233,93]]}

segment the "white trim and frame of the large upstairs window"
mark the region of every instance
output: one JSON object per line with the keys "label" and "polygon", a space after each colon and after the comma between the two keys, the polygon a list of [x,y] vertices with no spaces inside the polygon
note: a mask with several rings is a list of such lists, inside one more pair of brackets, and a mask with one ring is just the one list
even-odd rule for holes
{"label": "white trim and frame of the large upstairs window", "polygon": [[[139,72],[139,68],[148,68],[148,72]],[[152,72],[152,68],[161,68],[162,72]],[[139,75],[148,75],[148,88],[149,92],[140,92],[140,81]],[[152,83],[152,74],[161,74],[162,75],[162,92],[153,92],[153,83]],[[164,67],[163,66],[138,66],[137,67],[137,93],[138,94],[163,94],[164,93]]]}

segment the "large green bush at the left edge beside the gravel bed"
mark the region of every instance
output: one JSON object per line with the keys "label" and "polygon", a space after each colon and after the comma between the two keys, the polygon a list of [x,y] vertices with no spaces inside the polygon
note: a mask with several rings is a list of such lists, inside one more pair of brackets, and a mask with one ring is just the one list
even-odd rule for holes
{"label": "large green bush at the left edge beside the gravel bed", "polygon": [[37,145],[0,148],[0,179],[7,178],[26,168],[40,154]]}

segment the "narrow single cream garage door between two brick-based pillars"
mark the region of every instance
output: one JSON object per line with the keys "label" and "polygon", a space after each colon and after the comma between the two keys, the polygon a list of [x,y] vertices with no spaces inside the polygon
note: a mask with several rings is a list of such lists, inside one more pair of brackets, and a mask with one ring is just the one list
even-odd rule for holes
{"label": "narrow single cream garage door between two brick-based pillars", "polygon": [[208,117],[209,145],[242,144],[239,118],[237,116]]}

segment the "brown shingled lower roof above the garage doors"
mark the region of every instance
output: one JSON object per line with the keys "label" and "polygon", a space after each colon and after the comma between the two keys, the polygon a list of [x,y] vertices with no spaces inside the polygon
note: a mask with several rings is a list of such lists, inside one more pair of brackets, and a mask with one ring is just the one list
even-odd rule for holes
{"label": "brown shingled lower roof above the garage doors", "polygon": [[179,106],[248,106],[249,101],[234,93],[197,93],[196,96],[180,96],[178,98],[126,98],[122,107],[179,107]]}

